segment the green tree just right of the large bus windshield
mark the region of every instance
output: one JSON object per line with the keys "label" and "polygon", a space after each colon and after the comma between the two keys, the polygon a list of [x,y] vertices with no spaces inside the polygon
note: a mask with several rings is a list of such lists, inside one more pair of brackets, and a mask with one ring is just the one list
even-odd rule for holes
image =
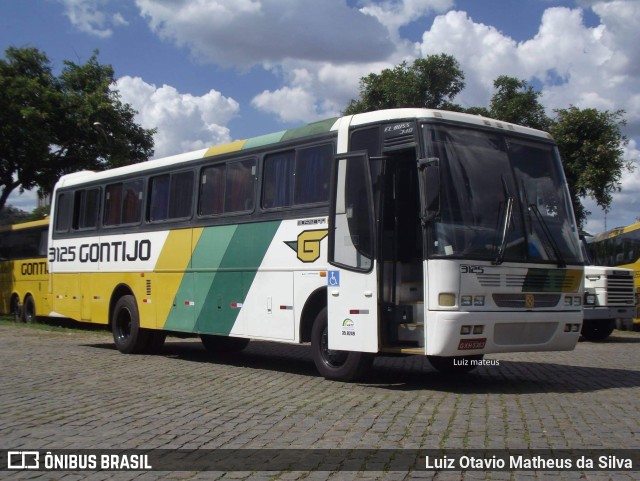
{"label": "green tree just right of the large bus windshield", "polygon": [[628,143],[622,133],[626,125],[624,110],[601,112],[572,105],[555,113],[550,132],[558,143],[576,218],[582,227],[590,212],[580,198],[589,196],[608,210],[613,192],[620,191],[622,173],[633,170],[633,165],[624,160]]}

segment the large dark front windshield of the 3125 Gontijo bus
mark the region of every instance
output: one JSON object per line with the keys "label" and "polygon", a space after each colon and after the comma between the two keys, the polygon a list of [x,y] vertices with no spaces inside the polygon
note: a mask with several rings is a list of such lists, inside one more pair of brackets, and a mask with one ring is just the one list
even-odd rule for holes
{"label": "large dark front windshield of the 3125 Gontijo bus", "polygon": [[425,124],[439,165],[430,257],[582,264],[556,147],[485,130]]}

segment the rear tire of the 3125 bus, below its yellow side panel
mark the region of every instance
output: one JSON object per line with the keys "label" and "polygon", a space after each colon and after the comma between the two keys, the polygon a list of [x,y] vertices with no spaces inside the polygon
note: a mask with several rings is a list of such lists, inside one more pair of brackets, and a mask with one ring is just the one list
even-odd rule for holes
{"label": "rear tire of the 3125 bus, below its yellow side panel", "polygon": [[149,331],[140,327],[138,305],[132,295],[122,296],[116,302],[111,317],[111,331],[118,351],[124,354],[139,354],[145,351]]}

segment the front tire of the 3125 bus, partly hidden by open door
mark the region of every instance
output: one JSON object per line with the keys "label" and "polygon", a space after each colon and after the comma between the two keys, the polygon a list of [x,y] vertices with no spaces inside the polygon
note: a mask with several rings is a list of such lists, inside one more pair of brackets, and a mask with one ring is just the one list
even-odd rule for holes
{"label": "front tire of the 3125 bus, partly hidden by open door", "polygon": [[327,325],[327,308],[324,307],[311,328],[311,354],[320,375],[325,379],[343,382],[364,378],[373,363],[373,354],[329,349]]}

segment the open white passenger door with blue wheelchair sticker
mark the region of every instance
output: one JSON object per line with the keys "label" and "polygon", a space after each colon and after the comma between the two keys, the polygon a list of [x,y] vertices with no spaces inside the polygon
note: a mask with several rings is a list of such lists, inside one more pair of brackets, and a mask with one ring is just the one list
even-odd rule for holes
{"label": "open white passenger door with blue wheelchair sticker", "polygon": [[378,352],[375,224],[367,154],[338,154],[331,187],[329,348]]}

